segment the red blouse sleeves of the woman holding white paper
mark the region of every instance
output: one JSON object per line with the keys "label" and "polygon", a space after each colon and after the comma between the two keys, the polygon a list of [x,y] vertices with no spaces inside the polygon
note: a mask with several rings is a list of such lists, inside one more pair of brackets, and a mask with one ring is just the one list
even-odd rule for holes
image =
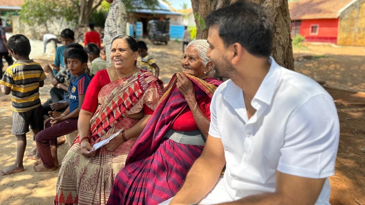
{"label": "red blouse sleeves of the woman holding white paper", "polygon": [[[91,79],[81,109],[94,113],[97,108],[98,104],[97,96],[100,92],[100,89],[103,88],[103,86],[109,84],[110,82],[111,81],[107,69],[98,71],[95,74],[95,76]],[[152,115],[153,110],[149,108],[146,104],[143,104],[143,113],[145,115]]]}

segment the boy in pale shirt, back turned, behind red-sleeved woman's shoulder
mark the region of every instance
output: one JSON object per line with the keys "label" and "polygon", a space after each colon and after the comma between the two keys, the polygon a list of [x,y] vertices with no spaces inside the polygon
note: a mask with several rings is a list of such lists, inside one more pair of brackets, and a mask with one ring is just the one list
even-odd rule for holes
{"label": "boy in pale shirt, back turned, behind red-sleeved woman's shoulder", "polygon": [[95,43],[88,43],[84,50],[88,54],[88,58],[91,63],[91,77],[95,76],[97,71],[107,68],[107,62],[100,57],[100,49]]}

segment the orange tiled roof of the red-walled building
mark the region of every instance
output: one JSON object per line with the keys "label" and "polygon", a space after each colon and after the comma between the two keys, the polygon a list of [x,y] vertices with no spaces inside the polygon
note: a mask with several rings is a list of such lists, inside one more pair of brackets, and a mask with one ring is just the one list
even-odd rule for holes
{"label": "orange tiled roof of the red-walled building", "polygon": [[341,9],[357,0],[301,0],[289,2],[291,20],[336,19]]}

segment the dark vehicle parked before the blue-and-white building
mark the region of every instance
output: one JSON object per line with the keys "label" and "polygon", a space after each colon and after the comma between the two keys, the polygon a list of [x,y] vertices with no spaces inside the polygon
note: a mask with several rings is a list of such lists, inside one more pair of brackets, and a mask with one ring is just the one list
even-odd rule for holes
{"label": "dark vehicle parked before the blue-and-white building", "polygon": [[170,40],[169,20],[150,20],[148,26],[148,38],[153,43],[165,42],[167,45]]}

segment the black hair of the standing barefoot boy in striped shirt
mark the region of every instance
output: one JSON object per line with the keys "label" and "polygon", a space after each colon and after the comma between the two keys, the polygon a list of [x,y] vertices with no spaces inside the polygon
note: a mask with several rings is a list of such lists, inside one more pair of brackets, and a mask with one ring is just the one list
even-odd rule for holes
{"label": "black hair of the standing barefoot boy in striped shirt", "polygon": [[29,39],[22,34],[13,35],[8,40],[8,49],[19,56],[28,56],[31,51]]}

